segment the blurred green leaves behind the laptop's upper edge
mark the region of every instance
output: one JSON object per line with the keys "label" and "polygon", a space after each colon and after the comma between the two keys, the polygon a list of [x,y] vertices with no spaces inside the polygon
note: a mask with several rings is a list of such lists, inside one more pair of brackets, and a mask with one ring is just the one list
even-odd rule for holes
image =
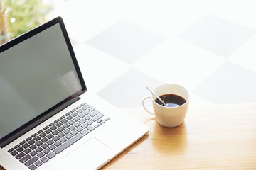
{"label": "blurred green leaves behind the laptop's upper edge", "polygon": [[6,8],[11,38],[44,23],[46,13],[50,11],[50,6],[44,5],[42,0],[6,0]]}

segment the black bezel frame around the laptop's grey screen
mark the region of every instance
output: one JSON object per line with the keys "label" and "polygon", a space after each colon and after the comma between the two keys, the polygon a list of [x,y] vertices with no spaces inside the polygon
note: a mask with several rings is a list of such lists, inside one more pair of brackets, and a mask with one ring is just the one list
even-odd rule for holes
{"label": "black bezel frame around the laptop's grey screen", "polygon": [[[75,52],[73,51],[73,47],[72,47],[70,39],[68,37],[68,32],[65,29],[63,19],[60,16],[57,18],[54,18],[51,21],[48,21],[47,23],[42,24],[41,26],[38,26],[37,28],[34,28],[33,30],[28,31],[27,33],[24,33],[23,35],[18,36],[17,38],[14,38],[13,40],[10,40],[9,42],[6,42],[3,45],[1,45],[0,46],[0,54],[1,54],[1,52],[4,52],[5,50],[8,50],[11,47],[14,47],[15,45],[18,45],[20,42],[23,42],[24,40],[27,40],[28,38],[33,37],[33,35],[41,33],[43,30],[46,30],[46,29],[50,28],[51,26],[54,26],[55,24],[60,24],[60,28],[63,33],[63,37],[65,38],[65,42],[66,42],[68,50],[70,52],[70,56],[73,60],[73,64],[74,64],[75,70],[78,74],[78,79],[80,80],[80,85],[82,86],[82,89],[75,92],[75,94],[69,96],[68,98],[65,98],[63,101],[60,101],[60,103],[56,104],[52,108],[49,108],[47,111],[36,116],[36,118],[33,118],[32,120],[28,121],[28,123],[21,125],[21,127],[10,132],[8,135],[5,135],[4,137],[2,137],[0,139],[0,147],[1,148],[5,147],[10,142],[16,140],[18,137],[21,137],[21,135],[23,135],[26,132],[28,132],[29,130],[35,128],[37,125],[40,125],[45,120],[48,120],[48,118],[50,118],[53,115],[55,115],[56,113],[60,112],[61,110],[63,110],[63,108],[66,108],[66,107],[70,106],[72,103],[74,103],[75,101],[78,101],[80,99],[79,96],[87,91],[87,88],[85,86],[85,81],[82,78],[82,72],[80,71],[78,61],[76,60],[76,57],[75,57]],[[1,55],[0,55],[0,57],[1,57]]]}

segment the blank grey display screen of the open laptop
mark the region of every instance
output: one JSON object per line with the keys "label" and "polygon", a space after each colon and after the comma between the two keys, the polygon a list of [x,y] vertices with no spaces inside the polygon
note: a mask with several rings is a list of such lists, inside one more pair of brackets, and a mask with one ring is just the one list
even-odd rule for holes
{"label": "blank grey display screen of the open laptop", "polygon": [[46,26],[0,48],[0,139],[85,90],[68,34]]}

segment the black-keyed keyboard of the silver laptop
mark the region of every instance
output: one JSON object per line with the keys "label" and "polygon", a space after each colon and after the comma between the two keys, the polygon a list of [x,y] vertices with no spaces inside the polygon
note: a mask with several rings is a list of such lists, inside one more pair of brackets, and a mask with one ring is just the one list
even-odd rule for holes
{"label": "black-keyed keyboard of the silver laptop", "polygon": [[29,169],[36,169],[110,118],[82,103],[8,152]]}

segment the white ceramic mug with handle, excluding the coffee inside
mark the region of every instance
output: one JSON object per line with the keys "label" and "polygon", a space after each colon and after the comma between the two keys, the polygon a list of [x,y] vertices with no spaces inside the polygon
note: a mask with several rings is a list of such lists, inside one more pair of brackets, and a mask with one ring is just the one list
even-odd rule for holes
{"label": "white ceramic mug with handle, excluding the coffee inside", "polygon": [[[176,127],[178,125],[181,125],[188,111],[188,103],[189,103],[188,90],[178,84],[163,84],[161,86],[156,87],[156,89],[154,89],[154,92],[158,96],[162,96],[164,94],[176,94],[178,96],[183,97],[186,100],[186,103],[183,103],[181,106],[176,106],[176,107],[166,107],[166,106],[159,105],[158,103],[156,103],[156,96],[154,96],[153,94],[152,96],[144,98],[144,100],[142,101],[142,105],[144,109],[151,115],[154,115],[156,118],[156,121],[160,125],[163,125],[166,127]],[[146,99],[149,99],[149,98],[151,98],[151,101],[153,103],[154,113],[150,111],[151,109],[147,108],[145,105]]]}

